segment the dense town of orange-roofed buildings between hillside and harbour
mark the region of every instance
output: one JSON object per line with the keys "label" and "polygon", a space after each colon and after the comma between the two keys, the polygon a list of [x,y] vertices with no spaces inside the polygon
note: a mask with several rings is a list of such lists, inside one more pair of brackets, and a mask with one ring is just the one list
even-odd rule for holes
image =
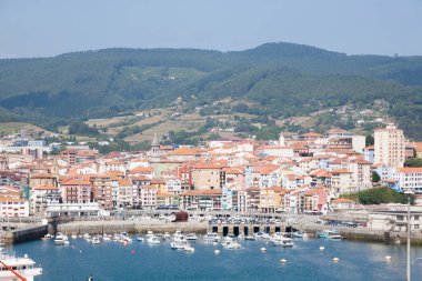
{"label": "dense town of orange-roofed buildings between hillside and harbour", "polygon": [[[289,138],[281,132],[269,142],[225,138],[204,147],[173,147],[161,145],[154,136],[149,151],[101,155],[81,144],[54,154],[42,140],[6,136],[0,147],[0,217],[178,209],[287,214],[390,210],[342,198],[380,185],[415,194],[418,205],[422,168],[403,165],[409,158],[422,157],[422,142],[406,141],[391,123],[375,129],[373,140],[366,147],[364,136],[331,129]],[[412,228],[418,230],[418,222]]]}

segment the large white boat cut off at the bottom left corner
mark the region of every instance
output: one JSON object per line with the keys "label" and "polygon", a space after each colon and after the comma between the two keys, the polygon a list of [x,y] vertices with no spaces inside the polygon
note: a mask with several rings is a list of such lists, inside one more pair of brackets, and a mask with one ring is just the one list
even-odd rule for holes
{"label": "large white boat cut off at the bottom left corner", "polygon": [[0,263],[0,281],[19,280],[10,269],[24,277],[27,281],[33,281],[34,277],[42,274],[42,268],[37,267],[36,262],[28,258],[28,254],[24,254],[23,258],[18,258],[2,250],[0,252],[2,262]]}

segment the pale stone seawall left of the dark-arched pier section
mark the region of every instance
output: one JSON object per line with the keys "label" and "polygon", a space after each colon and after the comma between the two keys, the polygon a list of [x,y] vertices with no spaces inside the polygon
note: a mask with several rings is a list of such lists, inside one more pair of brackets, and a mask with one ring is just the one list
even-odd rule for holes
{"label": "pale stone seawall left of the dark-arched pier section", "polygon": [[195,232],[199,234],[207,232],[207,223],[200,222],[135,222],[135,221],[79,221],[57,225],[57,232],[66,234],[102,234],[129,232],[132,234],[153,232],[174,232],[177,230],[185,233]]}

